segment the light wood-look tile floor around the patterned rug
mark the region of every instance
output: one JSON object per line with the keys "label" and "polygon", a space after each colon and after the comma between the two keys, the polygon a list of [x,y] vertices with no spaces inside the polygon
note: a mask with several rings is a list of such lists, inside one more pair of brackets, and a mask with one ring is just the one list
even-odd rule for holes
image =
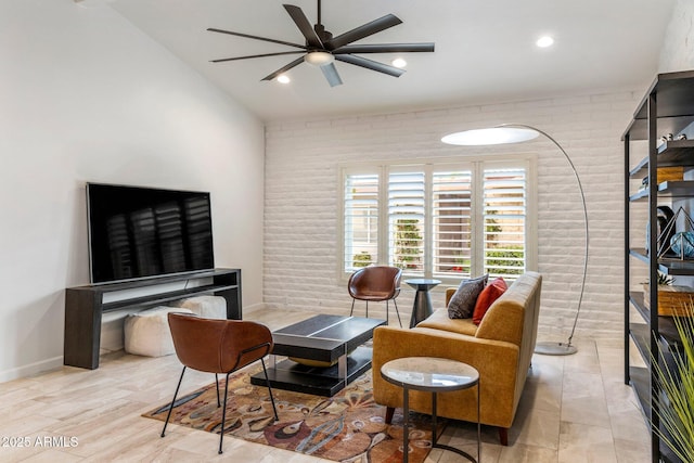
{"label": "light wood-look tile floor around the patterned rug", "polygon": [[[245,314],[278,329],[311,313],[256,311]],[[574,356],[535,355],[509,447],[493,428],[483,427],[485,463],[646,463],[650,440],[630,387],[624,384],[621,339],[576,343]],[[62,368],[0,384],[0,461],[243,461],[309,463],[322,460],[234,438],[170,426],[141,413],[170,400],[180,363],[176,356],[151,359],[114,352],[89,371]],[[187,373],[182,390],[210,382]],[[475,425],[452,422],[441,443],[476,453]],[[72,439],[72,440],[70,440]],[[434,449],[426,463],[459,462]],[[324,461],[323,461],[324,462]]]}

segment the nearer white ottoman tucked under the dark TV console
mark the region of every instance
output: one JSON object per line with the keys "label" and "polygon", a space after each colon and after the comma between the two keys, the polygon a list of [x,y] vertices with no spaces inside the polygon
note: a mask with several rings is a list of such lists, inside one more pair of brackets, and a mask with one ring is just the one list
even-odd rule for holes
{"label": "nearer white ottoman tucked under the dark TV console", "polygon": [[174,353],[176,350],[167,319],[169,312],[193,313],[188,309],[165,306],[130,313],[124,325],[126,352],[145,357]]}

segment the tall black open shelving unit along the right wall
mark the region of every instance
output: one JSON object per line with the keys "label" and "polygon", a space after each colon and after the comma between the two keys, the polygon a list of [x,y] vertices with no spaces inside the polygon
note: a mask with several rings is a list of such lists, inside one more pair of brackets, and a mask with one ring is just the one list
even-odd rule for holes
{"label": "tall black open shelving unit along the right wall", "polygon": [[[657,183],[658,167],[682,166],[684,171],[694,169],[694,72],[659,74],[637,107],[633,118],[622,136],[625,146],[625,383],[630,384],[639,399],[644,419],[651,428],[651,454],[654,463],[676,463],[680,460],[660,440],[656,429],[660,426],[657,407],[659,390],[655,381],[653,358],[659,358],[660,349],[669,349],[678,343],[672,319],[658,316],[658,288],[648,286],[648,294],[631,291],[640,282],[631,281],[631,266],[645,265],[648,281],[658,280],[658,271],[671,276],[694,276],[694,261],[658,259],[645,247],[632,247],[630,210],[634,203],[647,203],[647,249],[657,249],[658,201],[694,198],[694,181],[667,181]],[[676,140],[660,143],[660,138],[672,133]],[[685,133],[690,140],[677,140]],[[647,143],[647,155],[632,159],[632,144]],[[632,167],[633,160],[639,160]],[[643,191],[631,191],[632,180],[648,178]],[[686,176],[685,176],[686,177]],[[647,299],[647,300],[646,300]],[[650,304],[646,304],[650,303]],[[631,317],[633,314],[633,317]],[[634,321],[638,320],[638,321]],[[645,368],[631,365],[629,350],[637,346]],[[652,356],[653,352],[653,356]]]}

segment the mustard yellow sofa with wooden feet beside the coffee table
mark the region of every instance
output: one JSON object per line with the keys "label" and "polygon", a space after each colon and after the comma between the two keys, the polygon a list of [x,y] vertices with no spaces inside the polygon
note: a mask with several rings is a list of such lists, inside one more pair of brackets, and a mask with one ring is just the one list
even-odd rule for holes
{"label": "mustard yellow sofa with wooden feet beside the coffee table", "polygon": [[[479,326],[472,319],[448,317],[444,307],[415,327],[380,326],[373,335],[373,391],[377,403],[387,407],[386,421],[402,407],[402,389],[381,376],[381,366],[402,357],[440,357],[471,364],[479,372],[480,422],[497,426],[499,438],[509,445],[509,428],[530,368],[537,338],[542,276],[520,275],[490,307]],[[447,292],[448,299],[455,288]],[[475,388],[438,396],[438,415],[475,422]],[[410,410],[430,413],[432,396],[410,391]]]}

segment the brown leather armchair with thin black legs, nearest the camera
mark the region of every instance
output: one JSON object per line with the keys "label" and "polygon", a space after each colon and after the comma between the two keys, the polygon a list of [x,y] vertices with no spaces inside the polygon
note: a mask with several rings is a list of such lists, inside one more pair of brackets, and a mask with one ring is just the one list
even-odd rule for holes
{"label": "brown leather armchair with thin black legs, nearest the camera", "polygon": [[176,402],[176,397],[181,387],[187,368],[215,373],[217,407],[221,406],[217,374],[224,373],[227,375],[224,384],[224,408],[222,409],[221,433],[219,435],[219,453],[222,452],[222,439],[224,438],[229,375],[234,371],[256,360],[260,360],[262,371],[265,372],[265,380],[268,385],[268,391],[270,393],[274,420],[278,420],[278,410],[274,407],[272,388],[268,381],[268,371],[262,360],[262,358],[272,350],[272,334],[267,326],[250,321],[213,320],[183,313],[169,313],[168,321],[176,355],[181,363],[183,363],[183,371],[178,381],[178,386],[176,386],[176,393],[174,393],[169,412],[166,415],[162,437],[164,437],[166,433],[166,426],[171,417],[171,410],[174,410],[174,403]]}

